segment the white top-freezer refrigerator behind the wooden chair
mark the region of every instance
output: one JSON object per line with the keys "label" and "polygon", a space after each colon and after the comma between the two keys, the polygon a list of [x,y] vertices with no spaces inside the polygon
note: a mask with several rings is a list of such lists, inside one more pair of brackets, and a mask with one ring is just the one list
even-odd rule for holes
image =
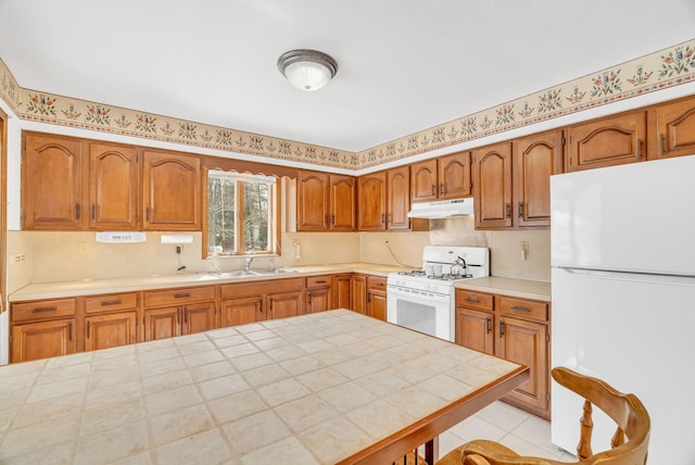
{"label": "white top-freezer refrigerator behind the wooden chair", "polygon": [[[695,464],[695,155],[553,176],[551,210],[552,365],[642,400],[649,464]],[[553,382],[553,443],[576,453],[581,412]]]}

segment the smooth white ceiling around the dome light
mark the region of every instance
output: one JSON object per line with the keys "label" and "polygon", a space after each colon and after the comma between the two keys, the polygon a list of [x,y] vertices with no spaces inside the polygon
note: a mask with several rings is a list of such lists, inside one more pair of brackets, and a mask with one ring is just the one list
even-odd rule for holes
{"label": "smooth white ceiling around the dome light", "polygon": [[[349,151],[695,37],[695,0],[0,0],[20,86]],[[277,58],[338,62],[303,92]]]}

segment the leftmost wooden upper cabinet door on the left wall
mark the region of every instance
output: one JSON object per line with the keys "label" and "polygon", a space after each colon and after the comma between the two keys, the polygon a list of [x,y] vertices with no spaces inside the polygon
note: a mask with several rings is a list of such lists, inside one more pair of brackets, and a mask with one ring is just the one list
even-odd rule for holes
{"label": "leftmost wooden upper cabinet door on the left wall", "polygon": [[83,228],[83,143],[27,133],[22,162],[25,229]]}

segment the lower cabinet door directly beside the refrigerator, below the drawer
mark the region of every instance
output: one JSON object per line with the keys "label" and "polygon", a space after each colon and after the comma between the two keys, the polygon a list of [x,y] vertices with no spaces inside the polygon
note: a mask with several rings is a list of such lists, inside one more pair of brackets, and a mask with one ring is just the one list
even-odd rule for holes
{"label": "lower cabinet door directly beside the refrigerator, below the drawer", "polygon": [[548,338],[547,325],[502,317],[497,328],[495,355],[526,365],[531,369],[527,382],[508,398],[541,411],[548,409]]}

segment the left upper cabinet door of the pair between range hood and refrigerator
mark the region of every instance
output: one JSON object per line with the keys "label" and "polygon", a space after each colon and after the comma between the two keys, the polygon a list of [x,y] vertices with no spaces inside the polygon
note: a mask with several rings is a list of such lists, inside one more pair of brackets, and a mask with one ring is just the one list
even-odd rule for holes
{"label": "left upper cabinet door of the pair between range hood and refrigerator", "polygon": [[476,228],[511,226],[511,143],[472,151]]}

